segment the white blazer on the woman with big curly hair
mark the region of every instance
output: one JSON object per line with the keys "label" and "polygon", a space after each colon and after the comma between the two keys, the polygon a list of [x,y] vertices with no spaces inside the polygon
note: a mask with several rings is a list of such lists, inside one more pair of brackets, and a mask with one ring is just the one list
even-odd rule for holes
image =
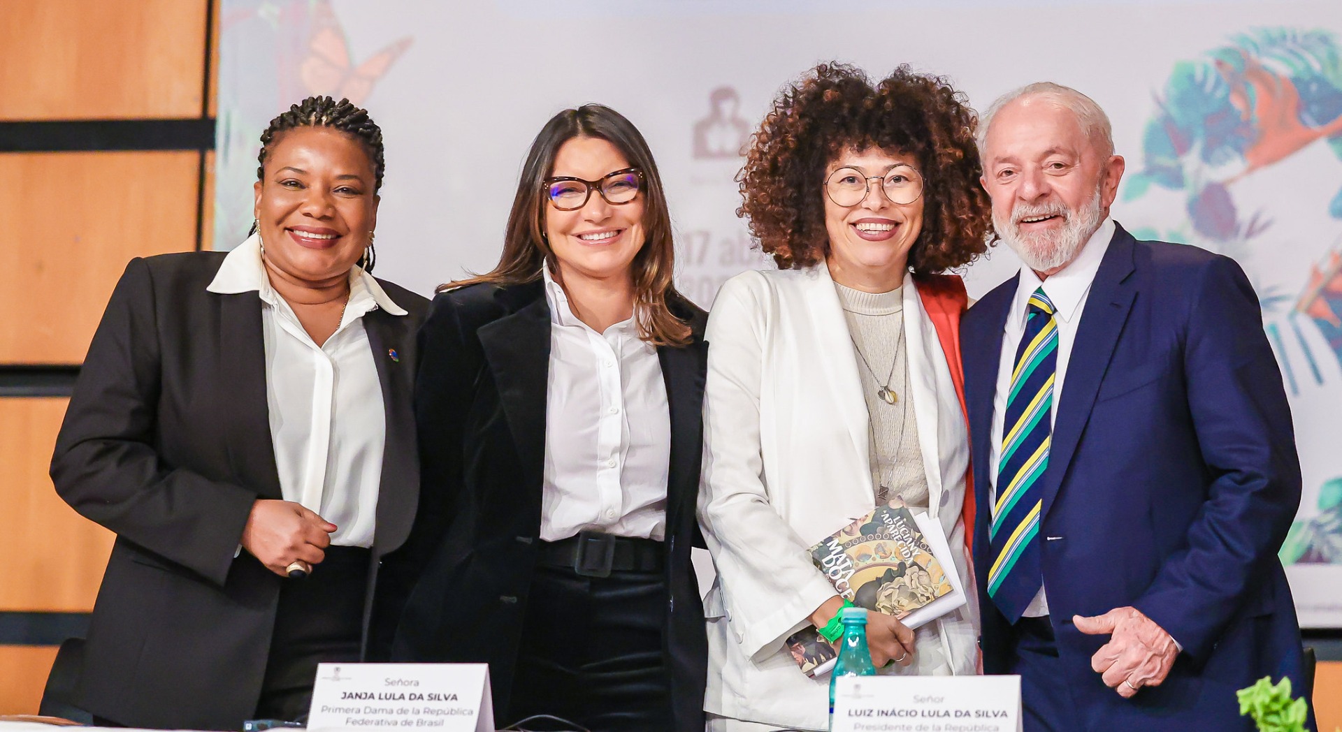
{"label": "white blazer on the woman with big curly hair", "polygon": [[[960,511],[969,437],[937,330],[911,276],[903,318],[929,513],[956,551],[970,605],[939,621],[956,674],[976,673],[977,607]],[[825,729],[828,677],[811,680],[784,648],[833,597],[808,548],[875,507],[867,404],[848,324],[824,263],[745,272],[709,315],[699,523],[718,571],[705,597],[705,709]]]}

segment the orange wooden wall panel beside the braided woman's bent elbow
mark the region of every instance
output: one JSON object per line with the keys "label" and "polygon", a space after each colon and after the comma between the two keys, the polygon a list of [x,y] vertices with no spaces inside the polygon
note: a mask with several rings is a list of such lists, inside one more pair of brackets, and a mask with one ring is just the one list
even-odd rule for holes
{"label": "orange wooden wall panel beside the braided woman's bent elbow", "polygon": [[47,475],[66,404],[0,398],[0,611],[93,610],[111,552],[113,534],[66,505]]}

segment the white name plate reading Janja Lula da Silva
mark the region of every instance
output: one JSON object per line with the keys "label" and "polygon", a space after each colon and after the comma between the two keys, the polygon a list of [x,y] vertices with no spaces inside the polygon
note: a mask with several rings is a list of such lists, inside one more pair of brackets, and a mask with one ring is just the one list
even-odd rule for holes
{"label": "white name plate reading Janja Lula da Silva", "polygon": [[486,664],[321,664],[309,729],[494,732]]}

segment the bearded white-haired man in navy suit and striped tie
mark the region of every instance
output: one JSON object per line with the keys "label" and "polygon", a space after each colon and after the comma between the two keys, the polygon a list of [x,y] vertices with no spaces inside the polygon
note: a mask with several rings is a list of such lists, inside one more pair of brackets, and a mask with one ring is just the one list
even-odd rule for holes
{"label": "bearded white-haired man in navy suit and striped tie", "polygon": [[1236,689],[1303,689],[1276,558],[1300,468],[1257,298],[1108,217],[1123,158],[1088,97],[1023,87],[978,134],[1024,261],[961,331],[984,670],[1021,676],[1027,731],[1251,729]]}

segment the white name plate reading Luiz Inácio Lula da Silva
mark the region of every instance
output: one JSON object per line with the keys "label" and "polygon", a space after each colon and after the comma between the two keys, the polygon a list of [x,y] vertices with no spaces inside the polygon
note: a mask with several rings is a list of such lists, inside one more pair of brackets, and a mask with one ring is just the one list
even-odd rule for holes
{"label": "white name plate reading Luiz In\u00e1cio Lula da Silva", "polygon": [[843,676],[832,732],[1019,732],[1019,676]]}

